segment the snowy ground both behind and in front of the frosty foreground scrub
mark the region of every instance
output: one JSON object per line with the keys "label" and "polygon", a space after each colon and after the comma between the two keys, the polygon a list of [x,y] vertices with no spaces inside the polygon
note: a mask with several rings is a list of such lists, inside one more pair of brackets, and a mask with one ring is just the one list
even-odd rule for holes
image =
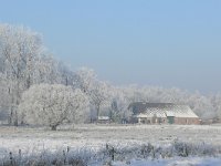
{"label": "snowy ground both behind and in front of the frosty foreground scrub", "polygon": [[[206,125],[75,125],[61,126],[53,132],[43,127],[0,126],[0,156],[10,152],[20,155],[33,155],[42,152],[63,152],[70,149],[90,149],[93,153],[106,148],[106,144],[115,148],[131,148],[150,143],[156,147],[167,147],[175,142],[206,144],[211,147],[221,146],[221,126]],[[218,151],[219,152],[219,151]],[[220,153],[213,158],[206,156],[170,157],[158,159],[116,160],[113,165],[219,165]],[[92,164],[93,165],[93,164]],[[97,165],[95,163],[94,165]]]}

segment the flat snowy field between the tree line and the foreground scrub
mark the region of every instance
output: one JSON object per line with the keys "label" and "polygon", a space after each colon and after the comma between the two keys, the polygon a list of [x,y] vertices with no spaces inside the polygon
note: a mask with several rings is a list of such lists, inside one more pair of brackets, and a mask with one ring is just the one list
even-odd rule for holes
{"label": "flat snowy field between the tree line and the foreground scrub", "polygon": [[106,143],[169,144],[175,139],[221,145],[221,126],[206,125],[76,125],[49,128],[0,126],[0,147],[9,151],[57,149],[60,147],[101,147]]}

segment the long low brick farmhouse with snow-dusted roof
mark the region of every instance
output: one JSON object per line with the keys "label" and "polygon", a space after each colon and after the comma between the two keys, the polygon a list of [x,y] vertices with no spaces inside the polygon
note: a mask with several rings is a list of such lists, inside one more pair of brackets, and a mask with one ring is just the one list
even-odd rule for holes
{"label": "long low brick farmhouse with snow-dusted roof", "polygon": [[200,124],[200,118],[188,105],[175,103],[131,103],[133,123],[143,124]]}

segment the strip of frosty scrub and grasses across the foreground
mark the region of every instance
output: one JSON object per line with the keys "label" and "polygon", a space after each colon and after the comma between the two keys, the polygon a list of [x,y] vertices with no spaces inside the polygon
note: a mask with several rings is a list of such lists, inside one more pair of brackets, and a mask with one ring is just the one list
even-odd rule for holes
{"label": "strip of frosty scrub and grasses across the foreground", "polygon": [[159,159],[171,157],[219,157],[221,156],[221,147],[204,143],[185,143],[173,142],[170,145],[151,145],[134,144],[131,146],[116,146],[106,144],[106,146],[97,149],[83,147],[60,149],[56,152],[44,151],[39,154],[17,154],[6,152],[0,156],[0,165],[2,166],[50,166],[50,165],[110,165],[112,160],[130,160],[134,159]]}

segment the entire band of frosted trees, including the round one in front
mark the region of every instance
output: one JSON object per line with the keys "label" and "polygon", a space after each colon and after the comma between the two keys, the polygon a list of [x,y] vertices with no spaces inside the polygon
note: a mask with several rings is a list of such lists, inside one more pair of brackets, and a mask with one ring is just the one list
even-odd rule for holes
{"label": "entire band of frosted trees, including the round one in front", "polygon": [[70,70],[48,52],[42,37],[24,27],[0,24],[0,120],[11,125],[85,122],[108,115],[128,118],[131,102],[188,104],[201,118],[221,117],[221,94],[179,89],[114,86],[87,68]]}

